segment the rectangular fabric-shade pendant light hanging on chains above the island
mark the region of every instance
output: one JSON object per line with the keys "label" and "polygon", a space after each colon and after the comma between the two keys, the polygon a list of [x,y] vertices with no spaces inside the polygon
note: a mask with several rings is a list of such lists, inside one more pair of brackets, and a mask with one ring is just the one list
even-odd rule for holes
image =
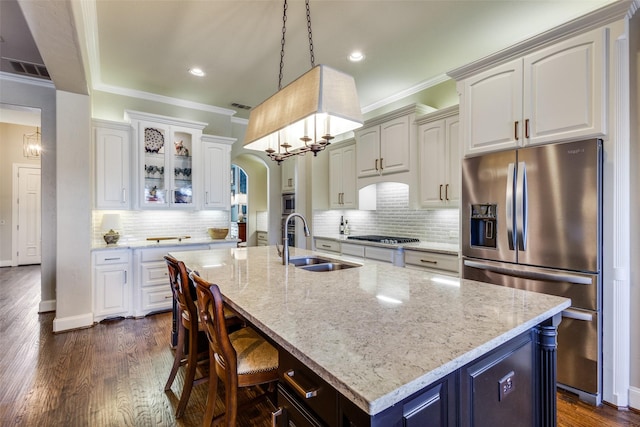
{"label": "rectangular fabric-shade pendant light hanging on chains above the island", "polygon": [[311,70],[282,87],[287,0],[282,16],[278,92],[251,110],[244,148],[265,151],[280,164],[284,159],[324,150],[336,136],[362,126],[362,112],[353,77],[326,65],[315,65],[311,12],[306,0]]}

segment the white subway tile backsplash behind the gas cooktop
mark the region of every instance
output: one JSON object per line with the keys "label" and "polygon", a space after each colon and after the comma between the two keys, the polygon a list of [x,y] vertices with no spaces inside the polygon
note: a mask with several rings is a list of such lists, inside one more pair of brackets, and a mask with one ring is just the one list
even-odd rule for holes
{"label": "white subway tile backsplash behind the gas cooktop", "polygon": [[338,234],[340,216],[349,220],[350,234],[382,234],[415,237],[421,241],[458,243],[458,209],[409,208],[409,187],[398,183],[377,185],[375,211],[329,210],[313,213],[313,234]]}

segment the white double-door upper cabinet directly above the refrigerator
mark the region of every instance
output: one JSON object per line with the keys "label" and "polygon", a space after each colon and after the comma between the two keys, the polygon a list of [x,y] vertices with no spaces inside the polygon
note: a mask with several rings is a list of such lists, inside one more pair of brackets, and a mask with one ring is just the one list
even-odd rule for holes
{"label": "white double-door upper cabinet directly above the refrigerator", "polygon": [[461,81],[465,156],[604,135],[605,41],[594,30]]}

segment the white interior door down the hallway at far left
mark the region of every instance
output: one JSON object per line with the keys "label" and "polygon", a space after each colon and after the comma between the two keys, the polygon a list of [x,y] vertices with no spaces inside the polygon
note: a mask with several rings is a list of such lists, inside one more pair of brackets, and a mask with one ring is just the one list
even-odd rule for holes
{"label": "white interior door down the hallway at far left", "polygon": [[18,168],[18,265],[40,264],[40,167]]}

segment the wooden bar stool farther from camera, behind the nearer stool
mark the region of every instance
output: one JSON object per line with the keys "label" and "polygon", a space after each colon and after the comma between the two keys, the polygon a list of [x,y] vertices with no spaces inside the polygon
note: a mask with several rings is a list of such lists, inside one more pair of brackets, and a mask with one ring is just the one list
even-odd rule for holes
{"label": "wooden bar stool farther from camera, behind the nearer stool", "polygon": [[[171,385],[176,378],[178,369],[185,366],[184,386],[180,393],[180,401],[176,409],[176,418],[180,418],[184,414],[187,407],[191,389],[194,385],[200,384],[208,380],[208,377],[202,376],[196,378],[196,370],[198,363],[206,363],[208,352],[198,352],[199,335],[205,335],[198,322],[198,309],[193,301],[190,278],[187,269],[182,261],[165,255],[167,268],[169,269],[169,282],[173,298],[178,304],[178,344],[176,345],[176,354],[169,373],[169,378],[164,386],[165,391],[171,389]],[[188,353],[185,357],[185,341],[188,339]]]}

